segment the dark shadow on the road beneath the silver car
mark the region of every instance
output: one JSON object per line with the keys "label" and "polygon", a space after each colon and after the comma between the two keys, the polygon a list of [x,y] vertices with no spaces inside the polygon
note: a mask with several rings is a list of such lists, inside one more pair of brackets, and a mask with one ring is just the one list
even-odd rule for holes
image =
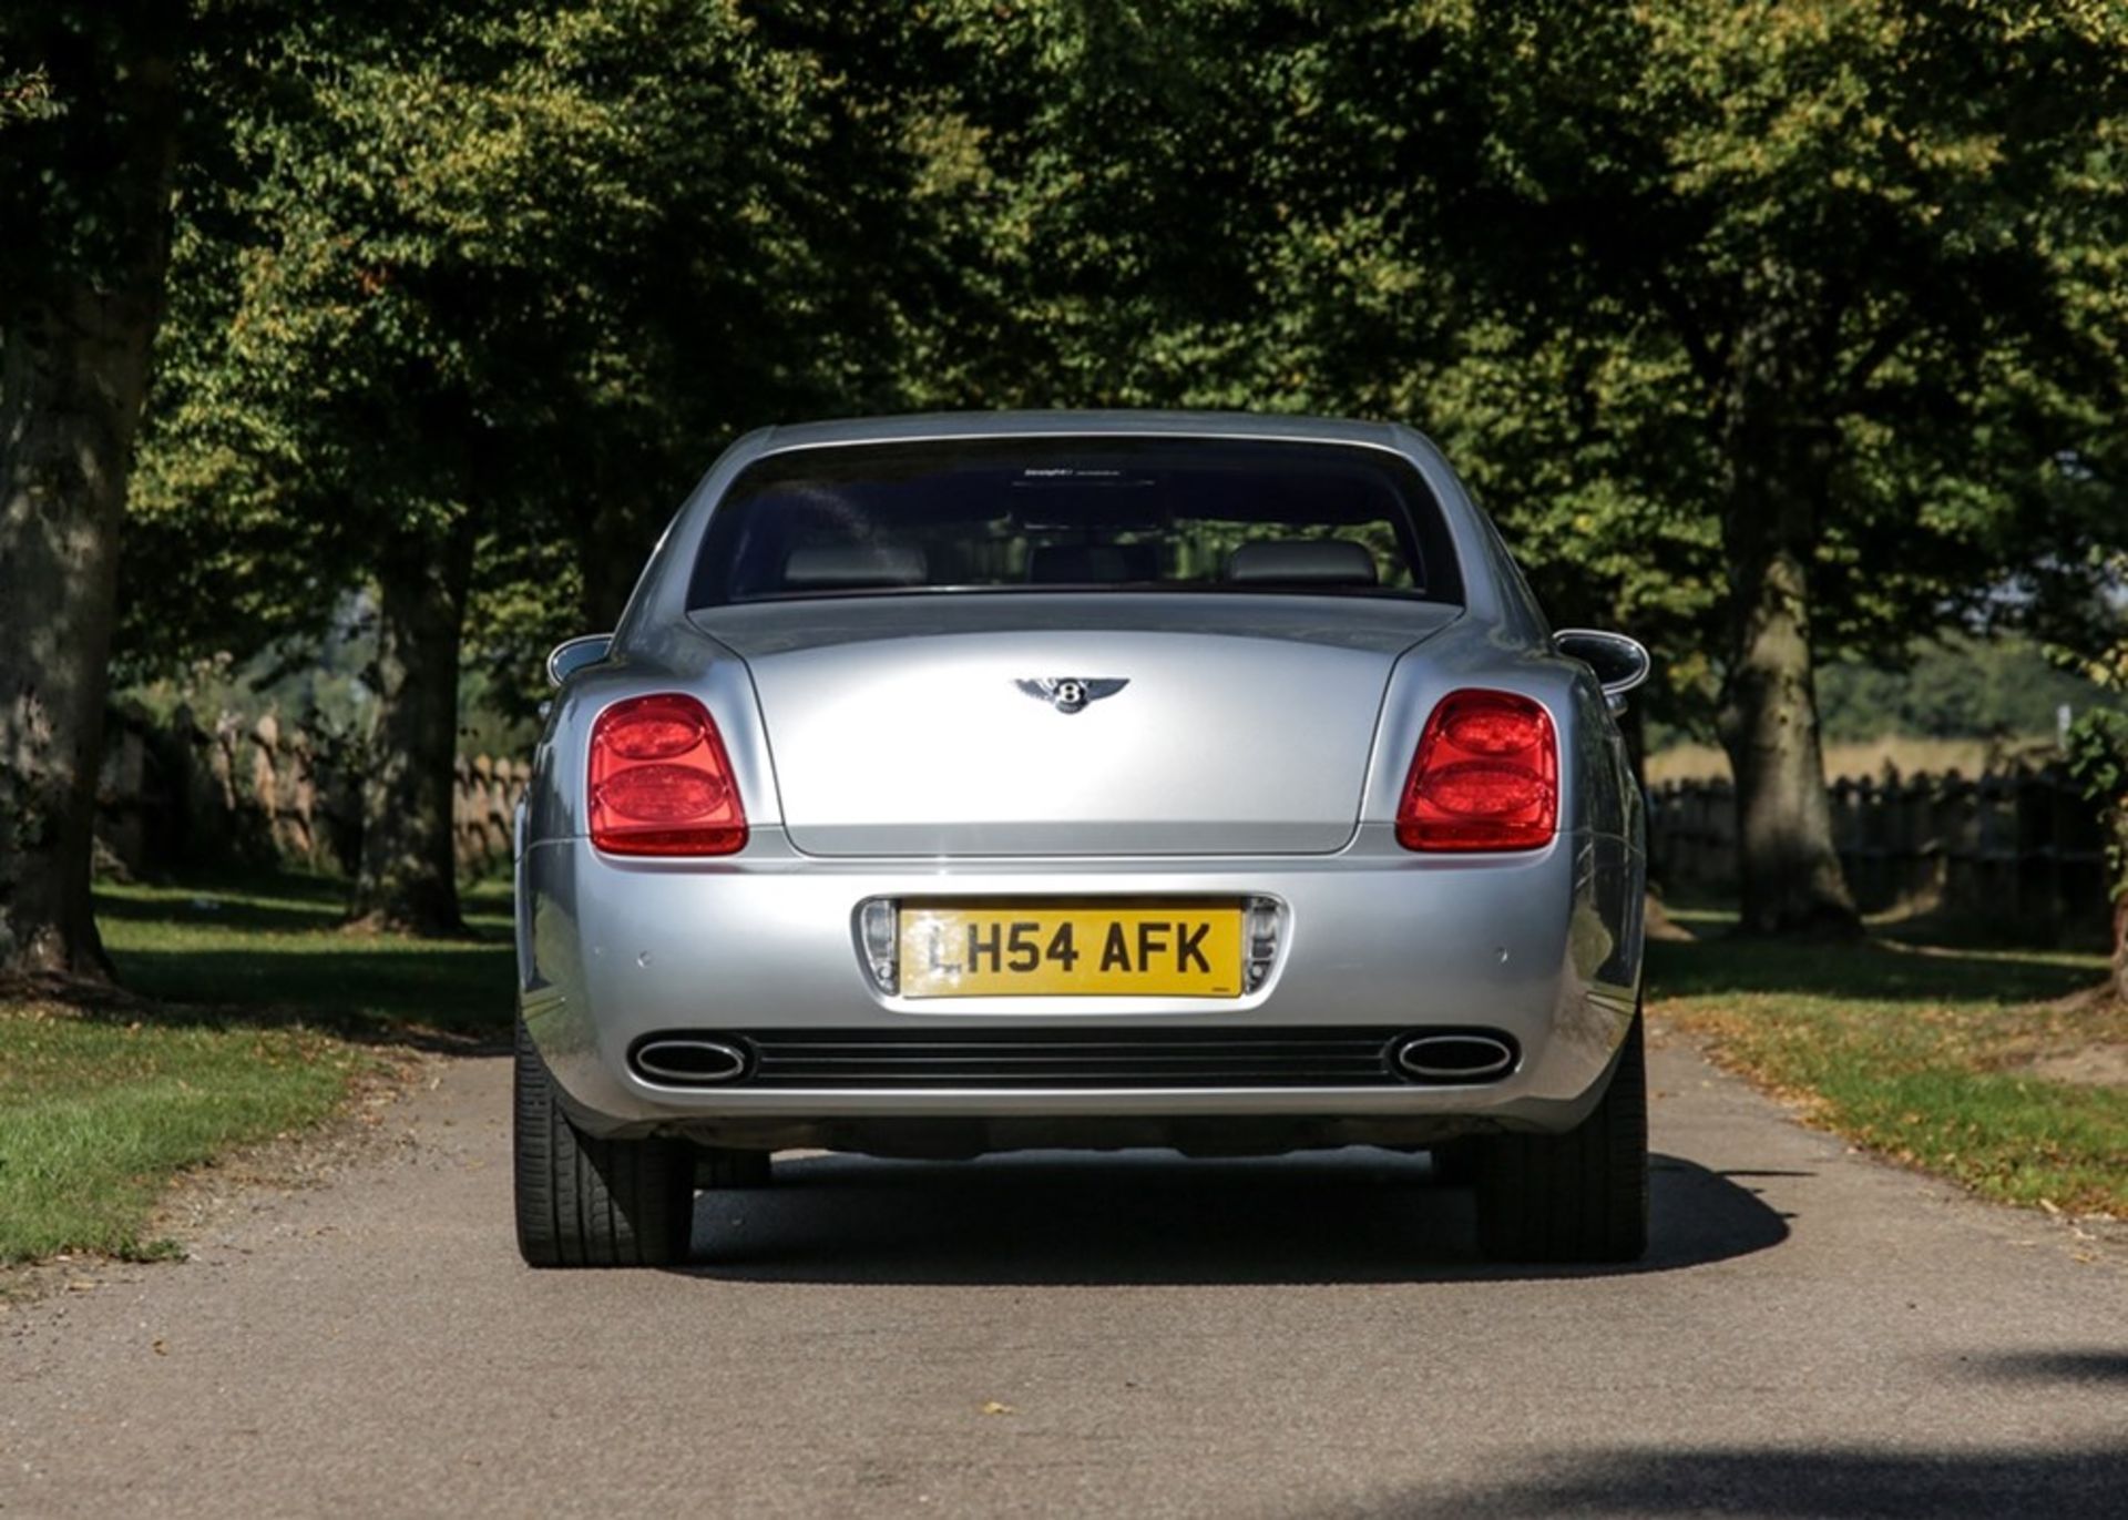
{"label": "dark shadow on the road beneath the silver car", "polygon": [[1622,1267],[1502,1267],[1477,1256],[1466,1188],[1375,1147],[1262,1160],[1136,1150],[975,1162],[798,1156],[775,1186],[696,1199],[694,1260],[724,1282],[1321,1284],[1590,1277],[1700,1267],[1779,1245],[1753,1190],[1653,1162],[1653,1241]]}

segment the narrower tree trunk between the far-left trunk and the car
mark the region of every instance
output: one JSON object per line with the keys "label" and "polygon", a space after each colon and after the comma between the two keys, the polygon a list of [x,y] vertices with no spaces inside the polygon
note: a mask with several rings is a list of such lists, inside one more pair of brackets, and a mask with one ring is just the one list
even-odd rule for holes
{"label": "narrower tree trunk between the far-left trunk and the car", "polygon": [[466,932],[451,798],[470,577],[470,519],[440,536],[394,534],[377,562],[377,726],[351,907],[364,926]]}

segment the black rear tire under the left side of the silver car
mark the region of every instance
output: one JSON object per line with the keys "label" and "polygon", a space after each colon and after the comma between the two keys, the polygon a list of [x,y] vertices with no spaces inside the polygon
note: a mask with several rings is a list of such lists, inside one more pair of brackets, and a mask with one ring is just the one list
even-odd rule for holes
{"label": "black rear tire under the left side of the silver car", "polygon": [[694,1233],[685,1141],[596,1139],[568,1122],[517,1024],[517,1250],[532,1267],[675,1267]]}

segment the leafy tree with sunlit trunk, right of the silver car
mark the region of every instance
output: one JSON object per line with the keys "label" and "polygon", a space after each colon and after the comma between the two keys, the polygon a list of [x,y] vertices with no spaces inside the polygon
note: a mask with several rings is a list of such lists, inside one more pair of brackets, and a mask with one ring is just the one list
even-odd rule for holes
{"label": "leafy tree with sunlit trunk, right of the silver car", "polygon": [[[1445,28],[1490,111],[1473,179],[1530,290],[1675,347],[1719,524],[1719,732],[1743,918],[1851,922],[1813,666],[2007,568],[2039,436],[1985,436],[2013,356],[2068,341],[2039,253],[2064,158],[2117,117],[2117,13],[1883,2],[1513,4]],[[1534,281],[1530,277],[1536,277]],[[1979,434],[1979,436],[1977,436]]]}

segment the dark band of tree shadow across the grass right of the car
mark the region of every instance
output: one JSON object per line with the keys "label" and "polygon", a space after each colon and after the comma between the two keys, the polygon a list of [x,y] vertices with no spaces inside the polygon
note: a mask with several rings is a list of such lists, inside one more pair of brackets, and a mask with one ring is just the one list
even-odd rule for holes
{"label": "dark band of tree shadow across the grass right of the car", "polygon": [[1883,939],[1709,937],[1647,947],[1649,996],[1788,992],[1877,1003],[2041,1003],[2081,992],[2102,971],[2045,952],[1919,949]]}

